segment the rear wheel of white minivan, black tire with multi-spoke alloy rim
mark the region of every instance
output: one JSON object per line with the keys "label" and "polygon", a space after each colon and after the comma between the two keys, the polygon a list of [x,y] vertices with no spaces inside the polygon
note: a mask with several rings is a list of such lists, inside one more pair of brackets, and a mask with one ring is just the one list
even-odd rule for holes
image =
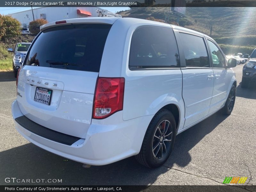
{"label": "rear wheel of white minivan, black tire with multi-spoke alloy rim", "polygon": [[169,158],[176,137],[176,122],[172,113],[161,109],[151,120],[136,160],[149,168],[163,165]]}

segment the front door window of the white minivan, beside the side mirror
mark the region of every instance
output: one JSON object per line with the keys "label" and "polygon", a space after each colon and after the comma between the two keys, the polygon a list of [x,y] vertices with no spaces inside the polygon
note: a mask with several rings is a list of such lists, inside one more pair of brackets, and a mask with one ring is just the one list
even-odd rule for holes
{"label": "front door window of the white minivan, beside the side mirror", "polygon": [[225,59],[220,49],[211,41],[208,40],[210,51],[212,53],[212,67],[215,68],[225,68]]}

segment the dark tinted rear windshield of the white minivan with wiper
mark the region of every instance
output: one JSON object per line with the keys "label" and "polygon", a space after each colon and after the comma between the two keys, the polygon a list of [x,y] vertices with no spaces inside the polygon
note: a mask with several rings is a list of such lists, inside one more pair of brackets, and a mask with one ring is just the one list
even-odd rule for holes
{"label": "dark tinted rear windshield of the white minivan with wiper", "polygon": [[46,29],[33,44],[26,65],[99,72],[110,28],[77,24]]}

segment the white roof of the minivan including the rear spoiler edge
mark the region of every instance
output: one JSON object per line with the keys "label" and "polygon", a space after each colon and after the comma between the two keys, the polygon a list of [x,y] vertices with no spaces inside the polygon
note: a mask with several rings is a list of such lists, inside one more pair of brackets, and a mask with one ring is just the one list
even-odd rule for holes
{"label": "white roof of the minivan including the rear spoiler edge", "polygon": [[[178,30],[183,30],[183,31],[187,31],[187,32],[191,32],[191,33],[195,33],[195,34],[199,34],[199,35],[202,35],[202,36],[205,36],[205,37],[208,37],[210,39],[212,39],[211,37],[203,34],[203,33],[200,33],[200,32],[197,32],[197,31],[194,31],[194,30],[191,30],[191,29],[188,29],[188,28],[184,28],[184,27],[180,27],[180,26],[176,26],[176,25],[170,25],[170,24],[167,24],[167,23],[162,23],[162,22],[157,22],[157,21],[151,21],[151,20],[144,20],[144,19],[137,19],[137,18],[129,18],[129,17],[125,17],[125,18],[120,18],[120,17],[87,17],[87,18],[76,18],[76,19],[67,19],[65,20],[66,23],[102,23],[102,24],[110,24],[112,25],[116,20],[122,20],[122,21],[126,21],[128,25],[131,25],[132,24],[135,24],[135,23],[148,23],[148,24],[155,24],[155,25],[159,25],[159,26],[168,26],[168,27],[172,27],[173,29],[178,29]],[[64,21],[64,20],[63,20]],[[47,24],[44,24],[40,27],[40,30],[43,31],[47,28],[51,28],[52,26],[55,26],[55,25],[66,25],[66,23],[62,23],[62,24],[56,24],[57,21],[54,21],[54,22],[50,22],[50,23],[47,23]]]}

